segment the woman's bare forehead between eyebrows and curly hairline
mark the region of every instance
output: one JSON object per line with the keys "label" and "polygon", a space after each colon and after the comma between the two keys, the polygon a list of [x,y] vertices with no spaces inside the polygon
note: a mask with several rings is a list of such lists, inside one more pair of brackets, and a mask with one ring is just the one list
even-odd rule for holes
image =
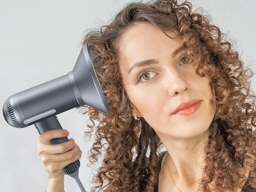
{"label": "woman's bare forehead between eyebrows and curly hairline", "polygon": [[[174,33],[167,33],[174,37]],[[182,42],[171,39],[152,24],[139,23],[127,30],[119,42],[120,68],[128,74],[132,65],[146,59],[161,59],[161,56],[171,56]]]}

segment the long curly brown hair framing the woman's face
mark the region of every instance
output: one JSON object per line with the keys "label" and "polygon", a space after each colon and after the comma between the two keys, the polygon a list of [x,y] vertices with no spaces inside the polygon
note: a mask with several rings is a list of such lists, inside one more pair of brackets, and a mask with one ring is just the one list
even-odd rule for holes
{"label": "long curly brown hair framing the woman's face", "polygon": [[[238,52],[223,39],[225,34],[210,24],[209,15],[196,13],[198,9],[192,12],[188,1],[180,4],[177,0],[132,2],[126,4],[109,25],[84,36],[82,44],[88,43],[93,53],[93,66],[110,108],[108,115],[88,105],[77,108],[83,109],[79,111],[83,114],[88,113],[93,123],[87,124],[91,130],[84,132],[84,138],[91,136],[94,120],[99,122],[96,142],[90,150],[91,163],[98,161],[100,149],[107,144],[103,165],[93,178],[99,185],[93,191],[153,191],[158,182],[157,162],[163,153],[160,152],[163,144],[145,119],[134,120],[132,109],[136,107],[127,96],[120,74],[120,38],[139,22],[152,24],[165,34],[176,32],[189,50],[196,74],[210,79],[216,112],[204,149],[203,170],[207,177],[200,181],[198,190],[210,191],[208,184],[212,180],[216,181],[218,191],[233,191],[243,186],[256,188],[256,132],[252,127],[256,117],[255,96],[250,93],[248,81],[253,72],[250,68],[244,69]],[[246,98],[252,100],[245,101]]]}

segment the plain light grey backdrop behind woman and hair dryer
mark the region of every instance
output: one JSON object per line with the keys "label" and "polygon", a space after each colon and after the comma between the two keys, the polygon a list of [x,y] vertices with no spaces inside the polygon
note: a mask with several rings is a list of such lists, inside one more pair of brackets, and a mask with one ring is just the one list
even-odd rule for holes
{"label": "plain light grey backdrop behind woman and hair dryer", "polygon": [[[0,1],[0,83],[1,107],[18,92],[45,83],[73,70],[84,31],[108,24],[110,19],[132,1]],[[212,16],[212,23],[228,33],[245,65],[255,72],[255,1],[193,0],[193,10],[202,7]],[[233,43],[232,43],[233,44]],[[255,80],[252,78],[255,91]],[[87,152],[92,140],[85,142],[88,116],[71,109],[58,115],[63,129],[70,132],[83,151],[79,179],[90,189],[92,172]],[[89,122],[89,121],[88,121]],[[90,123],[90,122],[89,122]],[[97,123],[97,122],[96,122]],[[34,125],[18,129],[0,117],[0,191],[28,192],[46,190],[46,173],[37,153],[39,137]],[[76,181],[65,175],[65,191],[81,191]]]}

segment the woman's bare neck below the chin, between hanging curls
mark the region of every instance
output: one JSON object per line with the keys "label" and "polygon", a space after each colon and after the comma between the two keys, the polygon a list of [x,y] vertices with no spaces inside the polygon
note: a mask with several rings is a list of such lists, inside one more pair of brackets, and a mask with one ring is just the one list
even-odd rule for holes
{"label": "woman's bare neck below the chin, between hanging curls", "polygon": [[167,152],[163,158],[161,170],[164,170],[167,178],[170,178],[171,173],[174,181],[180,180],[185,186],[197,186],[203,173],[204,147],[207,144],[208,135],[202,133],[189,140],[172,141],[169,140],[168,144],[164,145]]}

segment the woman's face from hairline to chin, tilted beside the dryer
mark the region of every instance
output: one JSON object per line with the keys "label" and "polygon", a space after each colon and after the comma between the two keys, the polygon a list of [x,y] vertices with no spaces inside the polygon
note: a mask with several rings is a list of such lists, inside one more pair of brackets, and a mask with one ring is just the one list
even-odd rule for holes
{"label": "woman's face from hairline to chin, tilted beside the dryer", "polygon": [[[180,46],[182,42],[168,38],[153,25],[137,24],[120,41],[120,70],[128,97],[138,109],[133,114],[143,117],[158,135],[188,138],[208,129],[215,113],[210,99],[215,101],[215,97],[208,77],[197,76],[191,58],[182,56],[186,50],[172,57]],[[131,69],[135,63],[149,59],[158,63]],[[180,103],[190,99],[202,100],[195,113],[172,114]]]}

